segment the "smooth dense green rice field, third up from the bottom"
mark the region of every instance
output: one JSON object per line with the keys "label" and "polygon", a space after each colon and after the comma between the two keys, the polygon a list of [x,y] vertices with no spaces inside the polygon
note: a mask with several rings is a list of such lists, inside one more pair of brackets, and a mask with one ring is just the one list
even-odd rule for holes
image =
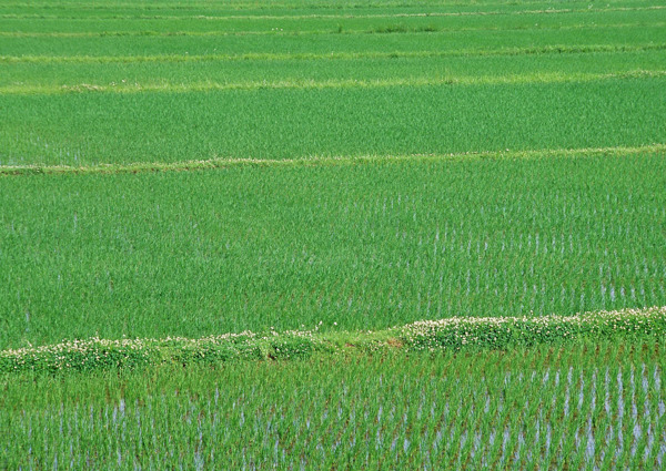
{"label": "smooth dense green rice field, third up from the bottom", "polygon": [[664,90],[666,78],[634,78],[6,95],[0,163],[85,165],[635,146],[666,141]]}

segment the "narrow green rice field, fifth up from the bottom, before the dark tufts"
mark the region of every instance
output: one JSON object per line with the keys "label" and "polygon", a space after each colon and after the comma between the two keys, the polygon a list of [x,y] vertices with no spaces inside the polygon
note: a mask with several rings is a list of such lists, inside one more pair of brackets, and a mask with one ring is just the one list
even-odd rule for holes
{"label": "narrow green rice field, fifth up from the bottom, before the dark tufts", "polygon": [[[586,45],[634,45],[658,42],[663,12],[653,12],[652,19],[628,28],[613,24],[572,29],[497,29],[431,32],[428,23],[421,29],[401,34],[231,34],[231,35],[98,35],[75,37],[3,37],[2,55],[21,57],[80,57],[80,55],[157,55],[157,54],[243,54],[280,53],[325,54],[332,52],[407,52],[407,51],[474,51],[513,48],[567,48]],[[67,21],[67,20],[64,20]],[[634,23],[635,24],[635,23]],[[279,25],[276,25],[280,28]],[[343,27],[344,28],[344,27]],[[377,27],[376,30],[380,30]],[[384,25],[384,28],[387,28]],[[387,29],[385,30],[387,31]],[[306,32],[306,31],[305,31]]]}

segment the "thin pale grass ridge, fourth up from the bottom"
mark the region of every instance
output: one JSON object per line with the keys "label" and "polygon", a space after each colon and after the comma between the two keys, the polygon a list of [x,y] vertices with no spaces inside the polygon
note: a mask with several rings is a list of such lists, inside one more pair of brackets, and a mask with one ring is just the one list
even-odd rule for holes
{"label": "thin pale grass ridge, fourth up from the bottom", "polygon": [[666,43],[545,45],[534,48],[468,49],[450,51],[367,51],[326,53],[249,52],[240,54],[158,54],[158,55],[0,55],[0,63],[143,63],[143,62],[222,62],[222,61],[291,61],[354,60],[397,58],[504,57],[532,54],[581,54],[603,52],[639,52],[666,50]]}

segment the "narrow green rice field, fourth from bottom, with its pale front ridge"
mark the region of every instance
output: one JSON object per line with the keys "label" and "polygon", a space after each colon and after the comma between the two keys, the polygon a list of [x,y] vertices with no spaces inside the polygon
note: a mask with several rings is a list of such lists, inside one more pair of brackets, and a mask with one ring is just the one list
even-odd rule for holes
{"label": "narrow green rice field, fourth from bottom, with its pale front ridge", "polygon": [[401,82],[412,86],[447,82],[577,81],[663,70],[666,51],[620,51],[579,54],[523,54],[447,58],[337,59],[335,61],[266,61],[248,59],[232,68],[219,62],[52,63],[7,62],[2,93],[90,91],[188,91],[260,88],[367,88]]}

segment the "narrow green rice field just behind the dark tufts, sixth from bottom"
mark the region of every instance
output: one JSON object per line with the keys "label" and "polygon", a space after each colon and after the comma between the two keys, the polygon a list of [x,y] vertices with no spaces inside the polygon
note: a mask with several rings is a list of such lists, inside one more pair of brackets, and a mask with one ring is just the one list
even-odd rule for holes
{"label": "narrow green rice field just behind the dark tufts, sixth from bottom", "polygon": [[[658,23],[666,18],[662,9],[594,9],[593,11],[569,12],[569,14],[557,16],[534,12],[529,7],[523,14],[486,14],[486,16],[446,16],[446,14],[413,14],[382,13],[374,16],[310,16],[303,18],[301,14],[282,18],[266,18],[261,16],[218,17],[208,14],[206,18],[192,18],[189,11],[183,11],[181,18],[134,18],[119,19],[87,18],[85,21],[78,17],[78,12],[68,9],[69,18],[21,18],[20,16],[8,18],[0,17],[0,29],[3,37],[52,35],[52,37],[78,37],[87,35],[228,35],[238,33],[265,33],[289,34],[297,32],[304,34],[327,33],[383,33],[404,34],[427,32],[436,33],[443,31],[487,31],[487,30],[543,30],[543,29],[586,29],[599,27],[639,28],[645,24]],[[285,10],[285,13],[287,11]],[[72,21],[74,20],[74,21]]]}

